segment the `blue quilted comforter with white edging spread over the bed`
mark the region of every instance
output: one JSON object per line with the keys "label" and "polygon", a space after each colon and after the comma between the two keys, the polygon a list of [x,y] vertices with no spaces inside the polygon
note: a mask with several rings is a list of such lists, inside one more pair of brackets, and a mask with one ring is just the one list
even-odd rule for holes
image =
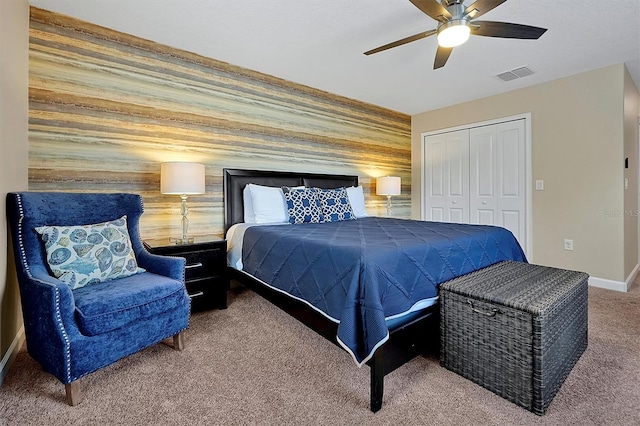
{"label": "blue quilted comforter with white edging spread over the bed", "polygon": [[379,217],[251,227],[242,246],[245,272],[339,321],[359,365],[388,339],[385,318],[503,260],[526,262],[504,228]]}

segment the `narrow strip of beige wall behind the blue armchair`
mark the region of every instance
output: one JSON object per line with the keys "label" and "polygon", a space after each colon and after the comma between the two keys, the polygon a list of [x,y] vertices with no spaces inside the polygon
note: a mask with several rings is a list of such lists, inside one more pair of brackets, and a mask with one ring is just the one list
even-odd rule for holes
{"label": "narrow strip of beige wall behind the blue armchair", "polygon": [[[13,258],[9,255],[5,203],[7,192],[27,188],[27,90],[29,5],[0,3],[0,384],[22,327]],[[11,351],[10,351],[11,350]]]}

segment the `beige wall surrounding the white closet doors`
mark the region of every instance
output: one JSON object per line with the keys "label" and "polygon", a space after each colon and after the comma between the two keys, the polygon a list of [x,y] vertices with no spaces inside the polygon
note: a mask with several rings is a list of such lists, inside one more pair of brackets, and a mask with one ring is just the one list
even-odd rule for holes
{"label": "beige wall surrounding the white closet doors", "polygon": [[[623,126],[624,92],[628,102],[638,95],[625,75],[620,64],[414,115],[412,216],[420,216],[422,132],[530,112],[533,180],[544,180],[545,189],[532,191],[529,260],[624,281],[638,257],[637,225],[625,217],[625,209],[637,209],[630,195],[637,193],[637,148]],[[632,178],[626,192],[625,156]],[[632,238],[625,239],[627,230]],[[574,240],[574,251],[563,249],[565,238]]]}

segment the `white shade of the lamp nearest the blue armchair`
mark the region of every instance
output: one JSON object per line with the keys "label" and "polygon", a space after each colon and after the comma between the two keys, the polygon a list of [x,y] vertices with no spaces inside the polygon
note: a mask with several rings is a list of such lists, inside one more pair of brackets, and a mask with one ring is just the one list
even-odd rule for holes
{"label": "white shade of the lamp nearest the blue armchair", "polygon": [[163,194],[204,194],[204,164],[170,162],[160,165],[160,192]]}

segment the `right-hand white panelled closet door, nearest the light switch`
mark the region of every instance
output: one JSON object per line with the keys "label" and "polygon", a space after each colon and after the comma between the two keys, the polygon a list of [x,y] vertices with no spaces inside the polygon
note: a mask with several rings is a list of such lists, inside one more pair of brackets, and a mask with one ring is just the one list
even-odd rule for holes
{"label": "right-hand white panelled closet door, nearest the light switch", "polygon": [[470,129],[470,223],[507,228],[526,247],[524,120]]}

